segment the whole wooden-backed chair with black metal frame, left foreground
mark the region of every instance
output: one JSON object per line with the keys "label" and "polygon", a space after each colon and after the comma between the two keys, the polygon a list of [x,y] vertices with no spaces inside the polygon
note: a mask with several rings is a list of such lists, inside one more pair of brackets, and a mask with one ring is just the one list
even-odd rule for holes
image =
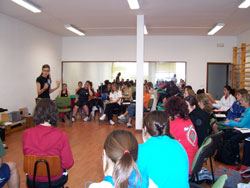
{"label": "whole wooden-backed chair with black metal frame, left foreground", "polygon": [[[47,176],[48,177],[48,187],[51,186],[51,176],[58,176],[61,173],[61,161],[59,156],[35,156],[35,155],[25,155],[24,156],[24,172],[26,175],[33,176],[32,186],[28,185],[28,187],[35,188],[36,187],[36,176]],[[64,187],[62,183],[60,187]]]}

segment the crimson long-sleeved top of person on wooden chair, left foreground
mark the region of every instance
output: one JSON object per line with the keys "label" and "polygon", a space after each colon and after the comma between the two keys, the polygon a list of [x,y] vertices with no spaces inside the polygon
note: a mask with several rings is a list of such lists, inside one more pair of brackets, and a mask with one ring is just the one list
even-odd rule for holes
{"label": "crimson long-sleeved top of person on wooden chair, left foreground", "polygon": [[[70,169],[74,164],[73,155],[66,133],[55,128],[37,125],[23,133],[23,154],[40,156],[59,156],[63,169]],[[57,180],[61,175],[51,177]],[[37,181],[46,182],[47,177],[37,177]]]}

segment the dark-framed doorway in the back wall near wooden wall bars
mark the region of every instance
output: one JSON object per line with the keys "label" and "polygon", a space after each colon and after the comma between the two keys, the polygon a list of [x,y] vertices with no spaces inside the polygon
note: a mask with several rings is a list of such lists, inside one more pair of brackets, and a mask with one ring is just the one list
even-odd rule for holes
{"label": "dark-framed doorway in the back wall near wooden wall bars", "polygon": [[231,63],[207,63],[207,92],[210,93],[215,100],[221,99],[225,85],[231,86],[231,74]]}

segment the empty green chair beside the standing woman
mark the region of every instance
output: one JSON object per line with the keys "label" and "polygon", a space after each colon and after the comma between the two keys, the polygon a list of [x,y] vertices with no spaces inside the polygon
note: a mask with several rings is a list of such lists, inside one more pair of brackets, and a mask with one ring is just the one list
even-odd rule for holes
{"label": "empty green chair beside the standing woman", "polygon": [[70,125],[72,126],[71,99],[69,97],[57,97],[55,103],[59,113],[70,113]]}

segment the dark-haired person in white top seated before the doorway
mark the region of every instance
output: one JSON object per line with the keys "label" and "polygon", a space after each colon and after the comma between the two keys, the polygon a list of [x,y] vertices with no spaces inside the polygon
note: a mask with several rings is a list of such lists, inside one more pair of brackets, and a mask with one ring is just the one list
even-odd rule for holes
{"label": "dark-haired person in white top seated before the doorway", "polygon": [[213,104],[213,107],[217,108],[221,111],[228,111],[229,108],[233,105],[233,103],[236,101],[235,97],[232,95],[232,88],[228,85],[224,87],[224,96],[221,98],[220,101],[217,101],[215,104]]}

